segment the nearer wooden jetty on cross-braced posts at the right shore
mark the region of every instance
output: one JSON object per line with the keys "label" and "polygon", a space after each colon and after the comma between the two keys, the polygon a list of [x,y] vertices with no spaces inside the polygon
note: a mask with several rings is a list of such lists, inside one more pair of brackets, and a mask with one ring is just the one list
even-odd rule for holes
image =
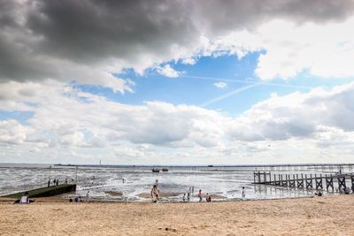
{"label": "nearer wooden jetty on cross-braced posts at the right shore", "polygon": [[270,171],[253,171],[253,177],[252,184],[303,189],[327,189],[327,191],[335,190],[335,182],[339,189],[345,188],[347,187],[346,180],[349,180],[351,189],[354,191],[354,173],[322,175],[316,173],[272,174]]}

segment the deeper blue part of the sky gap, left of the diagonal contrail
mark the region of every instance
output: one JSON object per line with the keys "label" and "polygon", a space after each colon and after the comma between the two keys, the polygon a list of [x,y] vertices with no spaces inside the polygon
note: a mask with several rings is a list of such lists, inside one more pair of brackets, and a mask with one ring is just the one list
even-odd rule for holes
{"label": "deeper blue part of the sky gap, left of the diagonal contrail", "polygon": [[172,64],[175,70],[183,72],[178,78],[168,78],[153,70],[139,76],[133,70],[127,69],[124,73],[116,76],[133,80],[135,92],[124,95],[113,93],[110,88],[96,86],[81,86],[80,88],[82,91],[104,95],[119,103],[142,104],[148,101],[161,101],[198,105],[214,95],[225,92],[214,86],[214,83],[222,80],[204,80],[189,76],[245,80],[253,76],[257,58],[258,54],[250,54],[243,57],[242,60],[237,60],[235,56],[201,57],[195,65]]}

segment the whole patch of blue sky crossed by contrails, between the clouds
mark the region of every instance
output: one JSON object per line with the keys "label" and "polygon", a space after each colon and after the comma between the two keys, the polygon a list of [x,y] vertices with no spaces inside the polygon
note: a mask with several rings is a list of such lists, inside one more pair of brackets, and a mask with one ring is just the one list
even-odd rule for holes
{"label": "whole patch of blue sky crossed by contrails, between the clouds", "polygon": [[[221,110],[237,115],[260,101],[266,100],[273,93],[287,95],[296,91],[308,92],[311,88],[332,88],[345,84],[352,79],[342,78],[327,80],[312,76],[310,72],[300,72],[288,80],[259,80],[254,75],[258,57],[262,52],[255,52],[238,59],[235,55],[221,57],[200,57],[195,65],[184,65],[181,62],[171,63],[174,70],[182,72],[180,77],[168,78],[155,70],[148,70],[140,76],[132,69],[116,76],[135,82],[134,93],[113,93],[110,88],[97,86],[80,86],[82,91],[104,95],[108,99],[132,105],[149,101],[160,101],[173,104],[188,104],[207,109]],[[225,82],[225,88],[217,88],[214,84]],[[250,86],[252,84],[258,84]],[[243,89],[249,87],[247,89]],[[235,92],[241,90],[240,92]],[[218,99],[220,98],[221,99]]]}

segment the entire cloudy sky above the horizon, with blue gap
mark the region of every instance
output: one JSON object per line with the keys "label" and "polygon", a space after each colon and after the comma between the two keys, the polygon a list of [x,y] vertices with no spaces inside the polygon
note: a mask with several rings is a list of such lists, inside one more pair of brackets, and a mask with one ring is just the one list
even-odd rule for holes
{"label": "entire cloudy sky above the horizon, with blue gap", "polygon": [[0,0],[0,163],[350,163],[353,0]]}

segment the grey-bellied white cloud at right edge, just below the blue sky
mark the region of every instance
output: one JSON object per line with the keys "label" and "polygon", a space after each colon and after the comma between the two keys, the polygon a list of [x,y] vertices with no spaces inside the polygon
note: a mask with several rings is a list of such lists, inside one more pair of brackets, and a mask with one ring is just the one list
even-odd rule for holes
{"label": "grey-bellied white cloud at right edge, just below the blue sky", "polygon": [[354,83],[325,91],[273,95],[255,104],[234,120],[231,135],[249,141],[288,140],[292,137],[313,137],[335,128],[354,132],[350,118],[354,116]]}

